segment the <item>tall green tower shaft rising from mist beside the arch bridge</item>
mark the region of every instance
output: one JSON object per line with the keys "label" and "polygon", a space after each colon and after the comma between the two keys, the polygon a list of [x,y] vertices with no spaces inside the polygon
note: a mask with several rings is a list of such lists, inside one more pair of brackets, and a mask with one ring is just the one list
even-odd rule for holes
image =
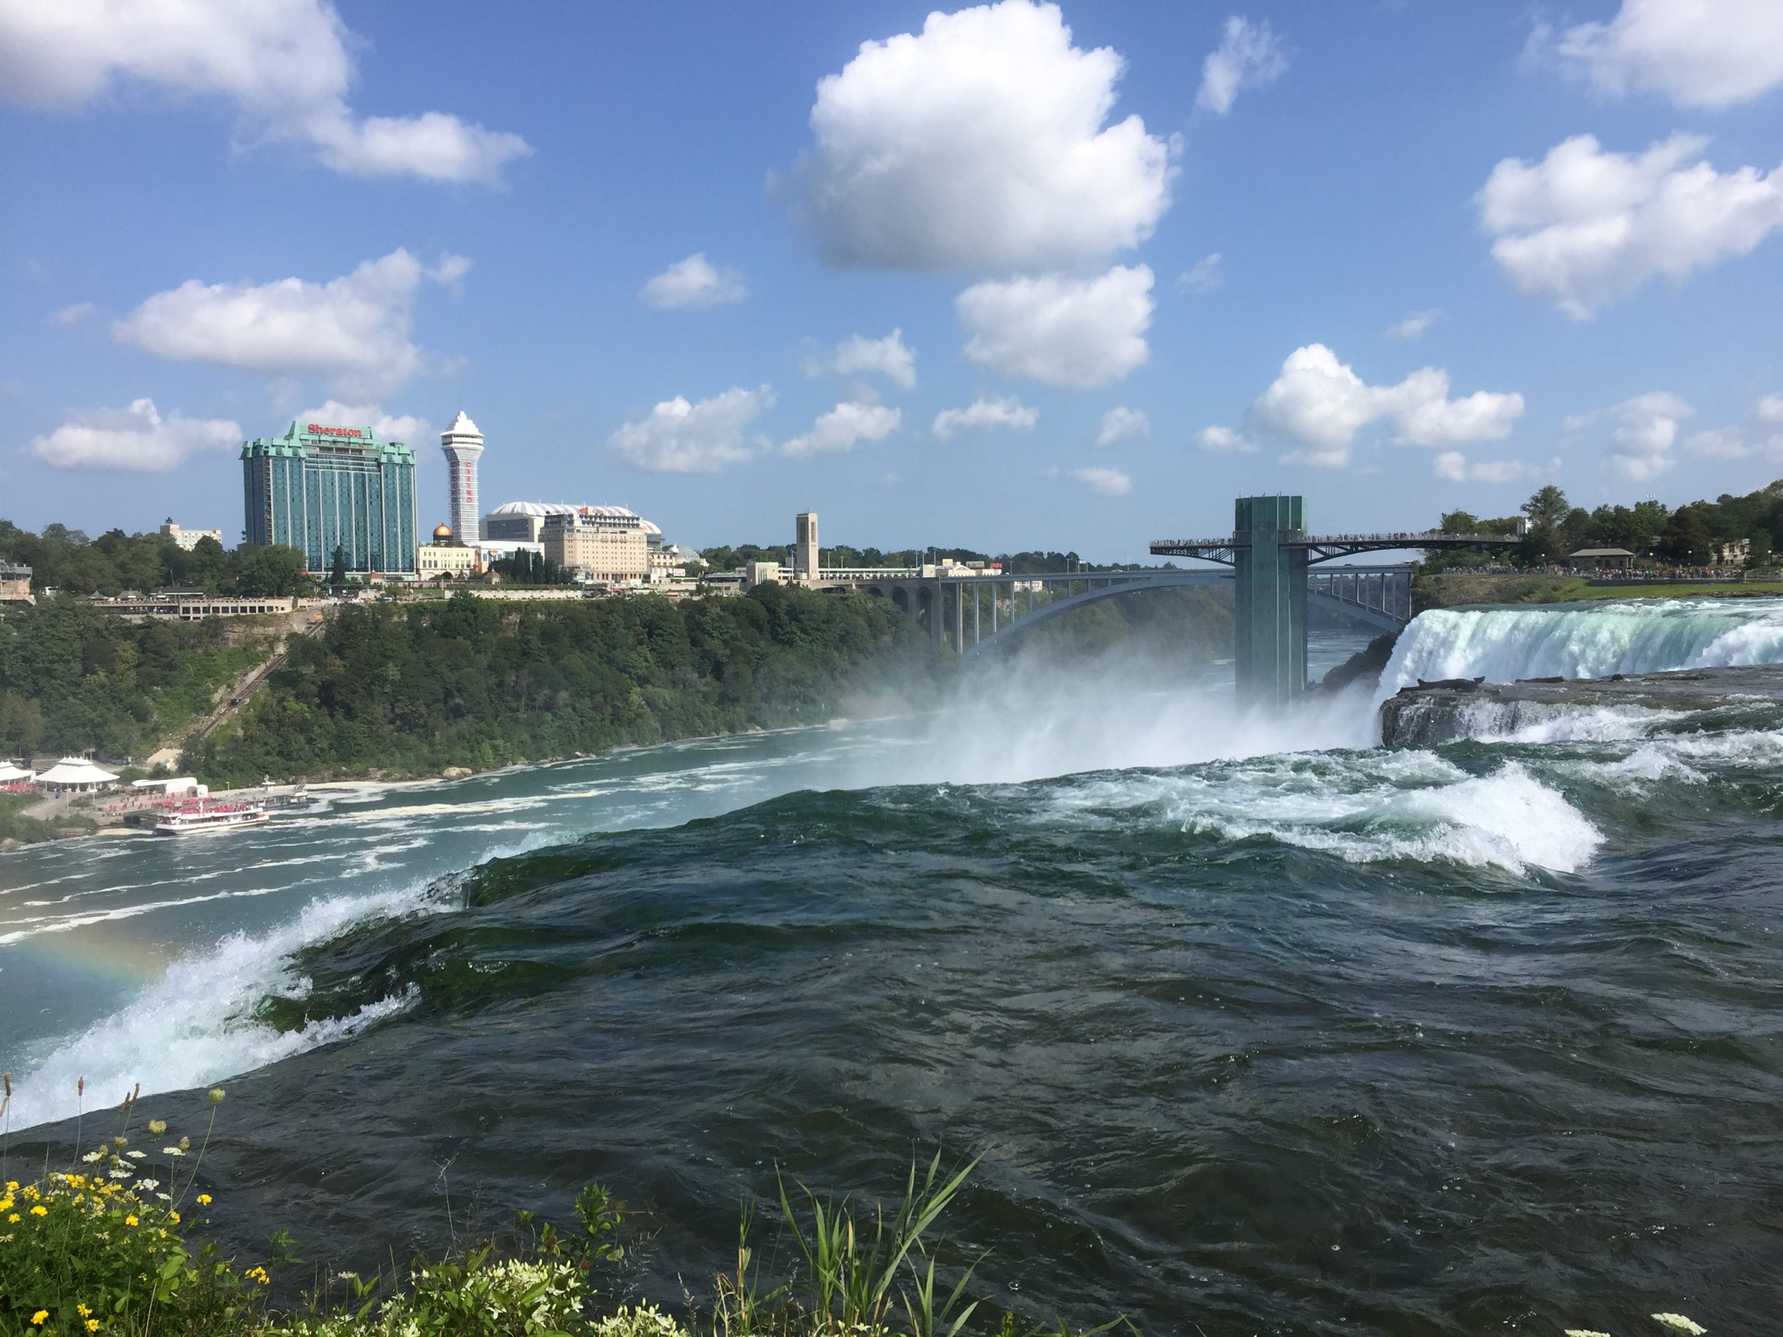
{"label": "tall green tower shaft rising from mist beside the arch bridge", "polygon": [[1239,692],[1282,706],[1307,690],[1307,499],[1239,497],[1232,510]]}

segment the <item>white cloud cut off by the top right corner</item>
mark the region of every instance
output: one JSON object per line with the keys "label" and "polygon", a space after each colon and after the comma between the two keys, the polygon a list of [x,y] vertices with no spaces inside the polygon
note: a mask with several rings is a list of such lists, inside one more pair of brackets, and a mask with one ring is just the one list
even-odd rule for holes
{"label": "white cloud cut off by the top right corner", "polygon": [[1656,93],[1717,111],[1783,86],[1776,0],[1623,0],[1608,21],[1537,27],[1530,55],[1614,96]]}

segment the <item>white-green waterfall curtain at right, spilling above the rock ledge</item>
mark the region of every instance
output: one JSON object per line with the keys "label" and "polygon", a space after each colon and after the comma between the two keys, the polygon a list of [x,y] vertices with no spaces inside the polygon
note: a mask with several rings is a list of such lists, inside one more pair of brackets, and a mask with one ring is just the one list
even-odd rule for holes
{"label": "white-green waterfall curtain at right, spilling above the rock ledge", "polygon": [[1439,608],[1400,635],[1376,701],[1417,679],[1608,677],[1783,663],[1783,597]]}

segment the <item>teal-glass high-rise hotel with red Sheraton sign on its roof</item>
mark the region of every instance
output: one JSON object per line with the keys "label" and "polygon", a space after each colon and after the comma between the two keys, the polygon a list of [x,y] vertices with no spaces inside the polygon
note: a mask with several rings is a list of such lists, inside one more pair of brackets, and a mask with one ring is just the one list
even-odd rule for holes
{"label": "teal-glass high-rise hotel with red Sheraton sign on its roof", "polygon": [[242,442],[250,544],[287,544],[326,572],[339,547],[346,569],[415,570],[415,453],[371,428],[292,422],[283,437]]}

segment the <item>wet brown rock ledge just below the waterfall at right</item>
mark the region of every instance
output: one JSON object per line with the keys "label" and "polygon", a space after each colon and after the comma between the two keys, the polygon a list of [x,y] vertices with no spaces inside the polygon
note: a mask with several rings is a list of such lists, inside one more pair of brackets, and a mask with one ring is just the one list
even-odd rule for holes
{"label": "wet brown rock ledge just below the waterfall at right", "polygon": [[1434,747],[1551,724],[1580,711],[1701,711],[1724,706],[1783,708],[1783,665],[1678,668],[1614,677],[1524,677],[1485,683],[1451,677],[1403,686],[1380,706],[1380,742]]}

